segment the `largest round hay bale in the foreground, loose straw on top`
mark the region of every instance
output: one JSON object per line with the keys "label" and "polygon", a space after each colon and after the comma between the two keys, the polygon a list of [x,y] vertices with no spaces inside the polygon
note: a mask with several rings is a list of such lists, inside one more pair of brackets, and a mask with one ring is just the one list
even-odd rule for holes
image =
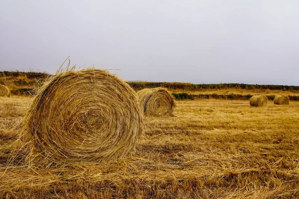
{"label": "largest round hay bale in the foreground, loose straw on top", "polygon": [[136,92],[107,71],[84,69],[45,82],[27,112],[22,138],[33,141],[31,154],[47,160],[100,161],[133,149],[142,127]]}

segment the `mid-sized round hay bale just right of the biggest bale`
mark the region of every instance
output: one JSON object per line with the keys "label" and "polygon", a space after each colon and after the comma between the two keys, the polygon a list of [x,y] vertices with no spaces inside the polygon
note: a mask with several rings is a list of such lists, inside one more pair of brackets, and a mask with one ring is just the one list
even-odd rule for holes
{"label": "mid-sized round hay bale just right of the biggest bale", "polygon": [[169,116],[175,107],[174,97],[165,88],[146,88],[137,92],[141,110],[148,116]]}

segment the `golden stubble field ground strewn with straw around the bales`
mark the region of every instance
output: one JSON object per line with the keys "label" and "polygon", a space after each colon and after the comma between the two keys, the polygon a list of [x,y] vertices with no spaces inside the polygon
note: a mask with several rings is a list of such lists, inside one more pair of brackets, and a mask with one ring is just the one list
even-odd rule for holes
{"label": "golden stubble field ground strewn with straw around the bales", "polygon": [[40,169],[7,164],[29,101],[0,98],[0,198],[299,198],[299,102],[177,101],[127,157]]}

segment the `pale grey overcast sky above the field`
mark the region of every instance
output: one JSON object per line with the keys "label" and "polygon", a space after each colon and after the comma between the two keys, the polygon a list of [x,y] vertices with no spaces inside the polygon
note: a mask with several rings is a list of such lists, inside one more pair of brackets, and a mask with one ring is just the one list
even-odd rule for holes
{"label": "pale grey overcast sky above the field", "polygon": [[299,0],[1,0],[0,70],[299,86]]}

